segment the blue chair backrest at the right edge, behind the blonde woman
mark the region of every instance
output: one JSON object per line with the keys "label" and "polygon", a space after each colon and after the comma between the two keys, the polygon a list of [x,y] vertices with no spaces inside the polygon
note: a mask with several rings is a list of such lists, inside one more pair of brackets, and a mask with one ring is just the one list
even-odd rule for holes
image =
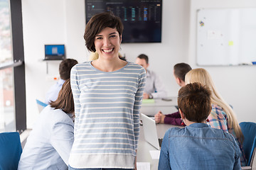
{"label": "blue chair backrest at the right edge, behind the blonde woman", "polygon": [[242,122],[239,123],[239,125],[242,130],[242,134],[245,137],[244,141],[242,142],[242,145],[245,151],[245,157],[248,162],[247,165],[250,166],[253,149],[255,149],[256,145],[256,123]]}

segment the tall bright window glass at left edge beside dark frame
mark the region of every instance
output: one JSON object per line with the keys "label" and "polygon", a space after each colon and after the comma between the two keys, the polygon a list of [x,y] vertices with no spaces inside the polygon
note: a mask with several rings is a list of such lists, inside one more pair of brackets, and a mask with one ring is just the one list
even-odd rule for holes
{"label": "tall bright window glass at left edge beside dark frame", "polygon": [[[0,66],[13,62],[9,0],[0,1]],[[0,132],[16,131],[14,69],[0,69]]]}

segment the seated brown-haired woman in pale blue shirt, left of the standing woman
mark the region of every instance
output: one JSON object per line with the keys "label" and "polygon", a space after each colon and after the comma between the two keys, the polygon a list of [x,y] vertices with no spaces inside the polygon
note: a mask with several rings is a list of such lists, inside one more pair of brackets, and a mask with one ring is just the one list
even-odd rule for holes
{"label": "seated brown-haired woman in pale blue shirt, left of the standing woman", "polygon": [[66,80],[56,101],[41,111],[18,163],[18,170],[68,169],[74,141],[74,101],[70,79]]}

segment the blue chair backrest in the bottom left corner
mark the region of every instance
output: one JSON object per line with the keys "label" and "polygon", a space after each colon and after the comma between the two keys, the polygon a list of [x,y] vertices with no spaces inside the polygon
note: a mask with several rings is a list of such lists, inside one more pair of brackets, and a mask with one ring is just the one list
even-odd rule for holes
{"label": "blue chair backrest in the bottom left corner", "polygon": [[0,133],[0,169],[18,169],[21,152],[21,140],[18,132]]}

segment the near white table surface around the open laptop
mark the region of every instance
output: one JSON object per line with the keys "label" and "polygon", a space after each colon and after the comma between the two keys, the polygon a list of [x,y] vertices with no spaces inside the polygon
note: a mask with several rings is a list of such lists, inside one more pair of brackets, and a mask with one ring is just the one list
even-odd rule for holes
{"label": "near white table surface around the open laptop", "polygon": [[[169,128],[174,128],[174,127],[179,127],[179,126],[157,124],[156,131],[157,131],[158,138],[163,138],[166,130],[169,130]],[[157,170],[159,159],[151,159],[151,155],[149,153],[150,150],[157,150],[157,149],[151,146],[148,142],[146,142],[146,140],[144,139],[143,126],[141,125],[140,132],[139,132],[139,145],[137,149],[137,162],[150,162],[150,169]]]}

